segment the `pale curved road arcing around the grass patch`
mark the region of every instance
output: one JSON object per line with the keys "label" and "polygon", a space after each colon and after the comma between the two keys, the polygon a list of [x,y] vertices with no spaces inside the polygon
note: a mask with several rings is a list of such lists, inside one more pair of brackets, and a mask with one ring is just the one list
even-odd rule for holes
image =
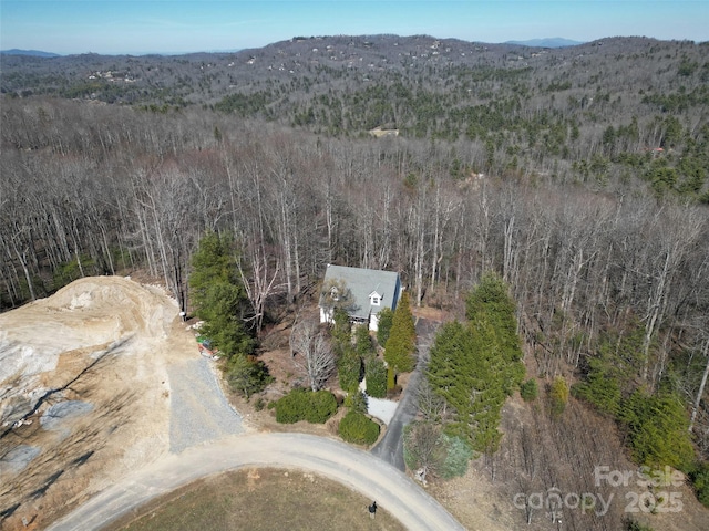
{"label": "pale curved road arcing around the grass patch", "polygon": [[464,530],[418,485],[371,454],[305,434],[227,436],[126,477],[55,522],[53,531],[99,529],[157,496],[201,477],[247,466],[292,467],[331,478],[389,511],[410,530]]}

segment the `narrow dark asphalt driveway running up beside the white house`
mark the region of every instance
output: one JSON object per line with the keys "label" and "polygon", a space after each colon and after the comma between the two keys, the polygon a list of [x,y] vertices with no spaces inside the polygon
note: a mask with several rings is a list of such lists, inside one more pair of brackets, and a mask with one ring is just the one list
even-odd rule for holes
{"label": "narrow dark asphalt driveway running up beside the white house", "polygon": [[417,392],[421,382],[421,373],[425,368],[429,358],[429,348],[433,341],[436,325],[430,321],[422,319],[417,321],[417,336],[419,360],[417,368],[411,373],[407,389],[403,397],[399,402],[399,406],[394,412],[394,416],[387,426],[387,431],[381,440],[372,448],[372,454],[384,461],[393,465],[399,470],[405,471],[407,467],[403,461],[403,427],[411,423],[418,413]]}

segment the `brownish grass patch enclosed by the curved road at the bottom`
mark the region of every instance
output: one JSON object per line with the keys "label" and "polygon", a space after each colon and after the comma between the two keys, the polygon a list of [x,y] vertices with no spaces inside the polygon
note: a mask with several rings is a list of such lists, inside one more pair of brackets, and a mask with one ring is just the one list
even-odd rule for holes
{"label": "brownish grass patch enclosed by the curved road at the bottom", "polygon": [[403,530],[372,500],[301,470],[246,469],[183,487],[123,517],[111,531]]}

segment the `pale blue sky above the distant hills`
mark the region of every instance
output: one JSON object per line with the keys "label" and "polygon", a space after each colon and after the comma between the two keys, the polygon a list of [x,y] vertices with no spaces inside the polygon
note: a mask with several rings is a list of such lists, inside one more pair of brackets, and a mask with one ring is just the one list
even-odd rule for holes
{"label": "pale blue sky above the distant hills", "polygon": [[709,0],[0,0],[0,50],[182,53],[296,35],[709,41]]}

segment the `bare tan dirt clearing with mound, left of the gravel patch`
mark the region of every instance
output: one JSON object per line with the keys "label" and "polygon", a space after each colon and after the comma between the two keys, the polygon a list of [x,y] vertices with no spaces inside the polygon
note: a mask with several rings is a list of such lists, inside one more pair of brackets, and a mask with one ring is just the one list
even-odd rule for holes
{"label": "bare tan dirt clearing with mound, left of the gravel patch", "polygon": [[42,529],[167,454],[168,367],[199,357],[177,313],[102,277],[0,314],[2,529]]}

